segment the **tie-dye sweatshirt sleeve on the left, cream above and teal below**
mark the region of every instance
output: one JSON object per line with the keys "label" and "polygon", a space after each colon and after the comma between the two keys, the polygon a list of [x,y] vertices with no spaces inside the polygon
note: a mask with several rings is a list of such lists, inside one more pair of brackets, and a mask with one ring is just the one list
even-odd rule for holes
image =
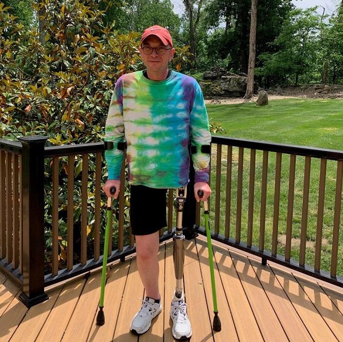
{"label": "tie-dye sweatshirt sleeve on the left, cream above and teal below", "polygon": [[105,141],[113,142],[114,148],[105,151],[108,179],[120,179],[123,151],[117,149],[117,143],[124,141],[123,123],[123,79],[115,84],[109,113],[105,125]]}

